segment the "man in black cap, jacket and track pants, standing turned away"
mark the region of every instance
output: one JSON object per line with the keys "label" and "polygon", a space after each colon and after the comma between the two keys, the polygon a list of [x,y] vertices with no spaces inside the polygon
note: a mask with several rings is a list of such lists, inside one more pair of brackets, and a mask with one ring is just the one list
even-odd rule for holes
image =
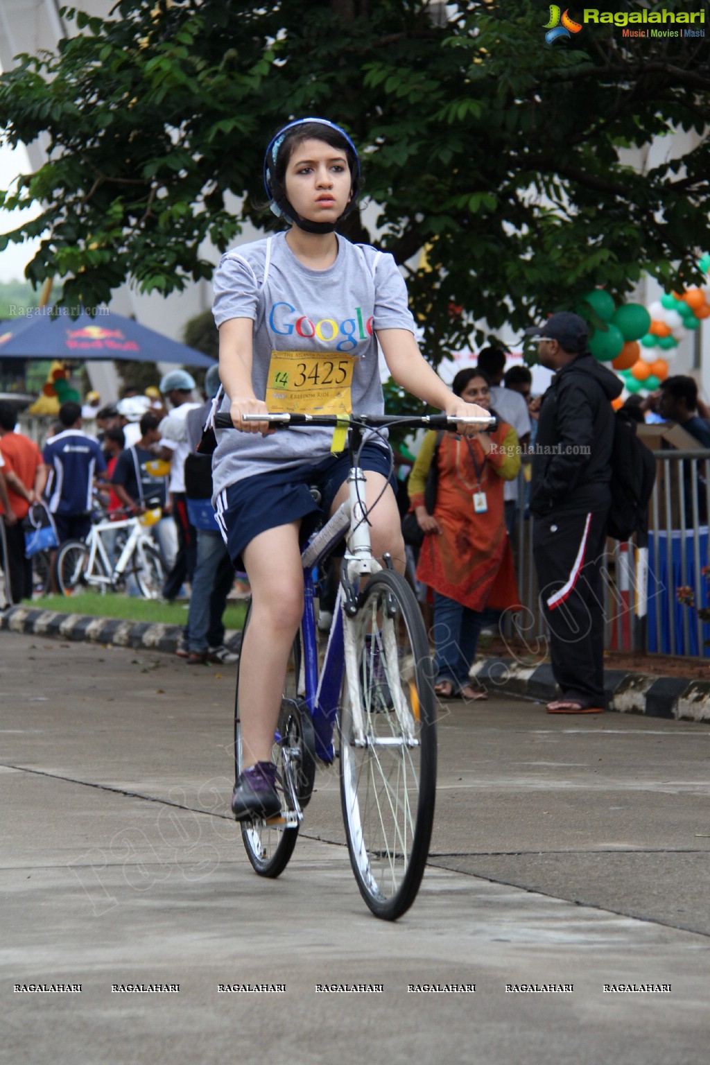
{"label": "man in black cap, jacket and track pants, standing turned away", "polygon": [[538,358],[556,371],[544,395],[532,459],[530,511],[540,601],[561,699],[548,714],[606,709],[601,562],[611,503],[611,400],[622,382],[592,356],[587,323],[552,314]]}

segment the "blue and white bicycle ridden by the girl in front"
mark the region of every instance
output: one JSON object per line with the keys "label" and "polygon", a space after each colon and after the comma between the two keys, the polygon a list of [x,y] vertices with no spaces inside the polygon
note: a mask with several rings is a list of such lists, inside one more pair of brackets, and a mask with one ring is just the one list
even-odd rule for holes
{"label": "blue and white bicycle ridden by the girl in front", "polygon": [[[453,429],[463,421],[483,428],[495,425],[495,419],[446,414],[246,417],[278,427],[347,426],[350,474],[348,502],[301,553],[304,607],[294,644],[294,690],[284,691],[273,748],[283,796],[281,814],[268,821],[241,822],[243,842],[257,873],[274,878],[283,872],[311,799],[316,761],[329,766],[340,755],[341,806],[358,887],[376,917],[396,920],[414,902],[429,855],[436,788],[434,678],[412,589],[389,556],[383,567],[371,554],[361,492],[365,474],[359,465],[363,431],[392,425]],[[231,428],[231,419],[218,414],[215,426]],[[319,668],[315,571],[344,537],[341,586]],[[361,578],[367,578],[366,583]],[[245,629],[248,623],[249,615]],[[238,672],[234,759],[238,780]]]}

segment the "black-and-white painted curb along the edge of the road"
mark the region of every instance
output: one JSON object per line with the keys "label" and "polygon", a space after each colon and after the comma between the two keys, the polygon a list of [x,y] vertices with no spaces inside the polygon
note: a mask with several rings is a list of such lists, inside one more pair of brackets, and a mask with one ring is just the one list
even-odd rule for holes
{"label": "black-and-white painted curb along the edge of the road", "polygon": [[[121,648],[143,648],[175,654],[182,636],[179,625],[159,625],[90,618],[16,606],[0,615],[0,629],[35,636],[62,637]],[[228,633],[233,639],[235,633]],[[524,666],[512,658],[486,658],[477,661],[472,675],[489,692],[515,695],[536,702],[549,702],[557,689],[548,665]],[[690,681],[653,673],[605,673],[610,710],[643,714],[651,718],[681,721],[710,721],[710,681]]]}

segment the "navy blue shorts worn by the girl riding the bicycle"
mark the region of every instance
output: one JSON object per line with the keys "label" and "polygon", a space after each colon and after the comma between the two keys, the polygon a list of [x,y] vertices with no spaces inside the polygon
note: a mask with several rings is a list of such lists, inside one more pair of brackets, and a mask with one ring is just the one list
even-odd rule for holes
{"label": "navy blue shorts worn by the girl riding the bicycle", "polygon": [[[378,444],[365,444],[360,456],[363,470],[380,473],[396,488],[390,452]],[[301,519],[300,542],[306,543],[317,527],[321,514],[328,514],[337,490],[348,477],[347,453],[329,455],[315,465],[259,473],[230,485],[217,497],[217,521],[227,530],[227,550],[232,562],[260,532],[288,525]],[[320,491],[316,504],[309,489]]]}

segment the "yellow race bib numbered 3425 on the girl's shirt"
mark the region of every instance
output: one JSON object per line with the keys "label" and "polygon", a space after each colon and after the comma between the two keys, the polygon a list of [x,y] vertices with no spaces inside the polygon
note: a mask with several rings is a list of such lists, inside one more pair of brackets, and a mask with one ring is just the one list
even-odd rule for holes
{"label": "yellow race bib numbered 3425 on the girl's shirt", "polygon": [[337,354],[271,351],[266,406],[290,414],[349,414],[353,362]]}

